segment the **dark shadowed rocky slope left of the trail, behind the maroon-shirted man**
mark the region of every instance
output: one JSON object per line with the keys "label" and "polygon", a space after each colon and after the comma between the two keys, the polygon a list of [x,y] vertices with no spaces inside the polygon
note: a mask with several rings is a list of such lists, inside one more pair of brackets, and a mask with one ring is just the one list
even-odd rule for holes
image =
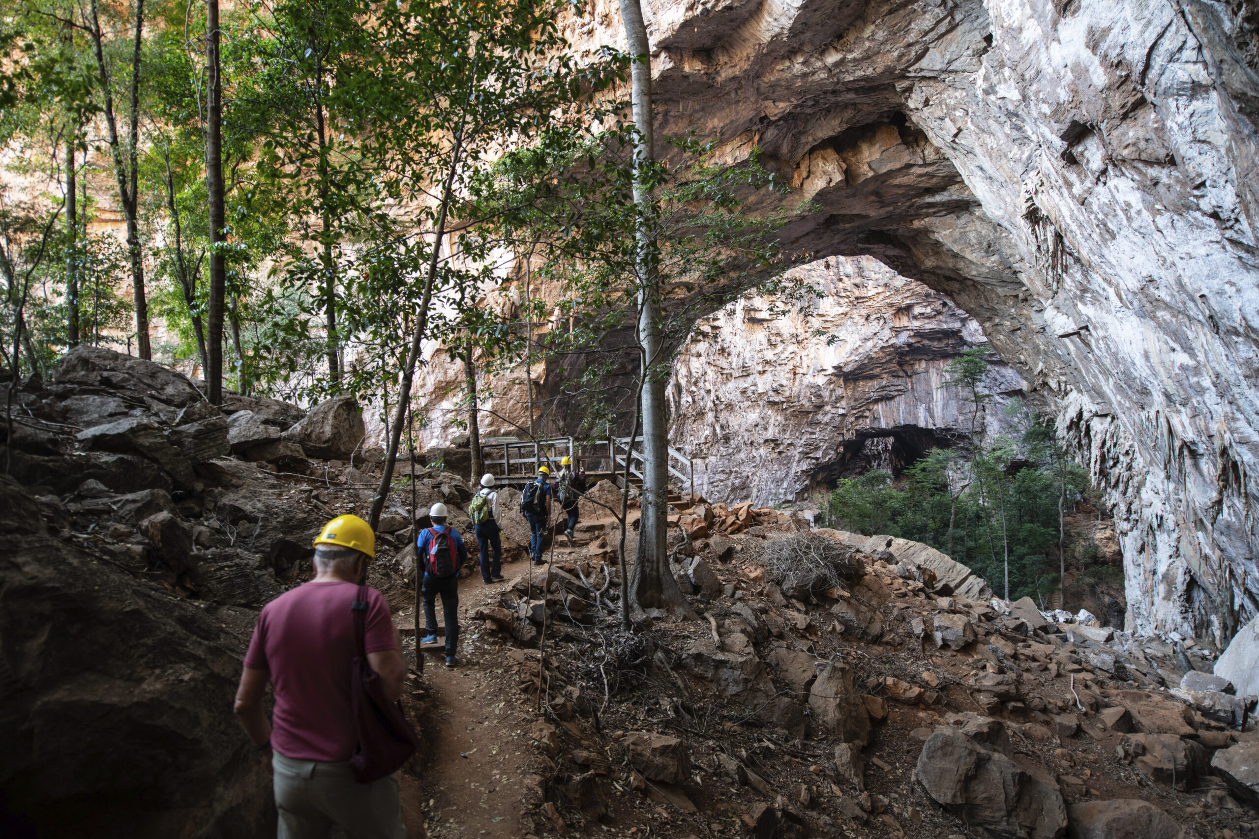
{"label": "dark shadowed rocky slope left of the trail, behind the maroon-shirted man", "polygon": [[[0,415],[0,439],[6,425]],[[327,520],[366,513],[379,474],[363,435],[346,399],[302,411],[228,396],[219,410],[184,376],[96,347],[13,394],[0,453],[5,835],[274,831],[232,698],[258,609],[310,576]],[[399,550],[410,497],[393,497],[370,575],[394,609],[413,597]],[[417,468],[417,508],[444,501],[468,530],[470,497],[461,478]]]}

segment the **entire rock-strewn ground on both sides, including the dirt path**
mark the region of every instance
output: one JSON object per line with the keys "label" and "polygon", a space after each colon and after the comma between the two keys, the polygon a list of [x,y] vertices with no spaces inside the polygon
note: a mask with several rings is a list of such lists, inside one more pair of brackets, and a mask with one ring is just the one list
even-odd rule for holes
{"label": "entire rock-strewn ground on both sides, including the dirt path", "polygon": [[[72,772],[14,785],[88,761],[102,771],[87,792],[126,811],[178,821],[199,795],[218,803],[203,824],[266,823],[266,779],[227,713],[244,644],[257,609],[308,574],[320,525],[365,512],[380,453],[344,400],[303,414],[230,396],[219,411],[178,374],[89,347],[14,404],[0,746],[5,789],[26,797],[10,801],[52,831],[130,835],[62,806],[86,794],[58,780]],[[408,628],[417,513],[443,501],[476,550],[466,482],[415,475],[370,580]],[[1254,698],[1210,673],[1207,640],[996,600],[914,542],[671,506],[697,620],[619,628],[619,526],[594,506],[548,567],[465,581],[461,668],[413,672],[405,697],[426,737],[403,775],[417,834],[1259,835]],[[510,566],[521,523],[505,525]],[[776,552],[838,558],[801,575]],[[172,752],[190,720],[196,743]]]}

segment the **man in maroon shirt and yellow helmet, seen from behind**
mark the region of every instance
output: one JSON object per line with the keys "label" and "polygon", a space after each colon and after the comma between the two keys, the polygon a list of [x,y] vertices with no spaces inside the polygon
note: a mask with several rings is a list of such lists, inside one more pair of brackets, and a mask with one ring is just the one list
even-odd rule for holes
{"label": "man in maroon shirt and yellow helmet, seen from behind", "polygon": [[[375,533],[356,516],[330,521],[315,540],[315,579],[268,603],[249,642],[235,713],[274,779],[279,839],[327,836],[339,825],[355,839],[404,839],[398,777],[359,784],[350,708],[355,654],[350,604],[358,599]],[[402,696],[407,663],[389,605],[368,589],[365,650],[385,697]],[[263,708],[274,686],[271,722]]]}

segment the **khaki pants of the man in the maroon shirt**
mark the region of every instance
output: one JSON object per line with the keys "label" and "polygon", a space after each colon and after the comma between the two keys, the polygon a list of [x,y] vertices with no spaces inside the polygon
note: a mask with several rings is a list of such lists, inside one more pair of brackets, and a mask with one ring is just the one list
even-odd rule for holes
{"label": "khaki pants of the man in the maroon shirt", "polygon": [[349,764],[291,760],[274,752],[279,839],[327,839],[332,825],[350,839],[407,839],[398,776],[359,784]]}

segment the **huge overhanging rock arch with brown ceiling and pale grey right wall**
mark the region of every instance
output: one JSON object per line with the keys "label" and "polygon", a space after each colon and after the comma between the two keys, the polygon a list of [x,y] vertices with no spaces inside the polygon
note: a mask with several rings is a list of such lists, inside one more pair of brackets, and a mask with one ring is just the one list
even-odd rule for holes
{"label": "huge overhanging rock arch with brown ceiling and pale grey right wall", "polygon": [[[1129,620],[1255,614],[1253,13],[1236,0],[645,4],[662,133],[760,146],[784,231],[946,292],[1119,520]],[[1240,15],[1234,18],[1234,15]],[[623,43],[596,4],[575,43]]]}

